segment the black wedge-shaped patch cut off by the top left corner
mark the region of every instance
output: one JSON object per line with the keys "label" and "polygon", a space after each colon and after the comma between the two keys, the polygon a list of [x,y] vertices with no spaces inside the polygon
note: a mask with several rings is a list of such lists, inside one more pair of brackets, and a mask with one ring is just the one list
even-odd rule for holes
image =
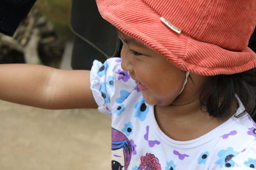
{"label": "black wedge-shaped patch cut off by the top left corner", "polygon": [[13,36],[36,0],[0,0],[0,32]]}

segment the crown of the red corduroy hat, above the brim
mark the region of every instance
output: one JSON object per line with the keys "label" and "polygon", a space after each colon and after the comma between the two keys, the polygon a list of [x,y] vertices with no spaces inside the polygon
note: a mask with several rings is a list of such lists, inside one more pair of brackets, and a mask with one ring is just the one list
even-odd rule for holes
{"label": "crown of the red corduroy hat, above the brim", "polygon": [[192,38],[240,51],[256,24],[255,0],[142,0]]}

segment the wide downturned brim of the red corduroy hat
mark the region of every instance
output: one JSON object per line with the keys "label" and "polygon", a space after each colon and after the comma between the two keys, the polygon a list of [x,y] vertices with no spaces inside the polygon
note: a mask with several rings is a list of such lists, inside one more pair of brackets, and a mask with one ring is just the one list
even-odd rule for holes
{"label": "wide downturned brim of the red corduroy hat", "polygon": [[102,17],[184,71],[212,76],[241,73],[256,67],[256,53],[246,47],[234,52],[218,45],[177,34],[143,1],[97,0]]}

